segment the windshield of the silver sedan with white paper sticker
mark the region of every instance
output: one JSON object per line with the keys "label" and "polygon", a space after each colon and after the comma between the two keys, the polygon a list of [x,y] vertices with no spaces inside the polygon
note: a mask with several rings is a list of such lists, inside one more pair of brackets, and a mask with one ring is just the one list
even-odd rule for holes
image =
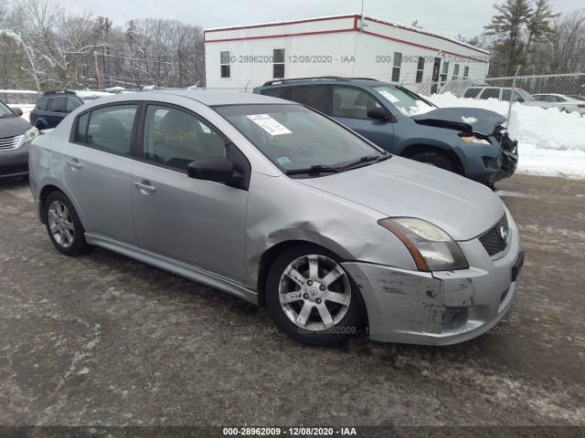
{"label": "windshield of the silver sedan with white paper sticker", "polygon": [[338,168],[379,151],[351,131],[300,105],[215,107],[283,172]]}

